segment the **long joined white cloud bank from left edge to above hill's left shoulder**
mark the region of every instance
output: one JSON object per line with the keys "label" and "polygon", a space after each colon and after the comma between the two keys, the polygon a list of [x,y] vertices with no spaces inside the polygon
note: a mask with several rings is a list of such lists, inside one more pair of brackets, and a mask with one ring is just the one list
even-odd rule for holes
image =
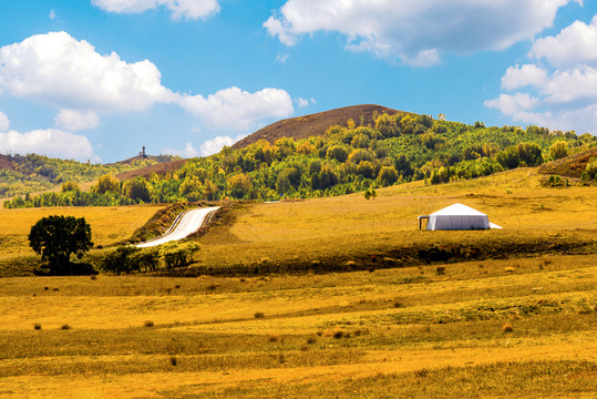
{"label": "long joined white cloud bank from left edge to above hill's left shoulder", "polygon": [[145,111],[163,103],[177,104],[215,129],[246,130],[294,112],[290,95],[281,89],[249,93],[229,88],[204,98],[174,93],[161,80],[151,61],[128,63],[114,52],[102,55],[66,32],[0,48],[0,92],[60,110],[55,125],[71,131],[96,126],[103,113]]}

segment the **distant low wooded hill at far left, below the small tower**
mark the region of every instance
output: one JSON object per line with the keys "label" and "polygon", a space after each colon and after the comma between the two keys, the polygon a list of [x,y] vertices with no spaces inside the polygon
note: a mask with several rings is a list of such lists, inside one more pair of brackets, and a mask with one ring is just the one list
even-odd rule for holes
{"label": "distant low wooded hill at far left, below the small tower", "polygon": [[173,158],[171,155],[159,155],[157,158],[138,160],[130,164],[104,165],[37,154],[17,154],[8,157],[12,161],[13,170],[0,170],[0,197],[52,190],[68,181],[92,182],[104,174],[128,172]]}

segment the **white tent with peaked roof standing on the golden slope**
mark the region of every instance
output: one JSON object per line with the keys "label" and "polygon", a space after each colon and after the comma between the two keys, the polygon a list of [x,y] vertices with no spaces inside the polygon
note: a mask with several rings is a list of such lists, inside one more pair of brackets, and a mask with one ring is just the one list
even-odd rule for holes
{"label": "white tent with peaked roof standing on the golden slope", "polygon": [[487,215],[463,204],[454,204],[431,215],[419,216],[419,228],[422,219],[428,219],[426,229],[487,229],[502,228],[490,223]]}

